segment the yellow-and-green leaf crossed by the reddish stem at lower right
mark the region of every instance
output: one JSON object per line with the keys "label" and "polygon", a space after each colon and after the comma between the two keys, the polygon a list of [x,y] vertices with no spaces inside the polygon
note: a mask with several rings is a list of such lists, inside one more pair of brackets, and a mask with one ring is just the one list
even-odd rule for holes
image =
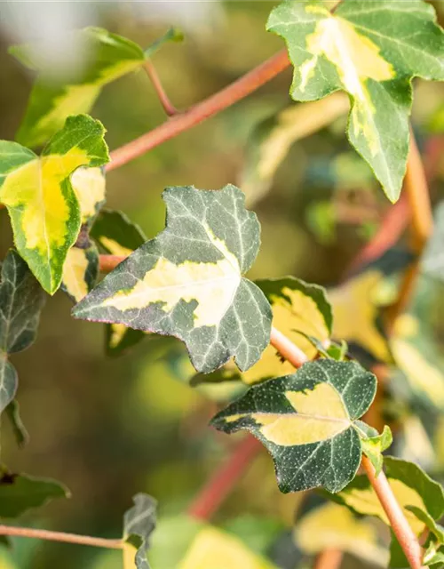
{"label": "yellow-and-green leaf crossed by the reddish stem at lower right", "polygon": [[[385,456],[384,467],[385,475],[404,510],[408,524],[419,536],[427,525],[424,523],[424,516],[439,520],[444,514],[444,492],[441,486],[413,462]],[[369,479],[364,475],[355,477],[341,493],[330,497],[357,514],[377,516],[386,525],[390,525]],[[424,516],[418,517],[418,510],[424,512]]]}

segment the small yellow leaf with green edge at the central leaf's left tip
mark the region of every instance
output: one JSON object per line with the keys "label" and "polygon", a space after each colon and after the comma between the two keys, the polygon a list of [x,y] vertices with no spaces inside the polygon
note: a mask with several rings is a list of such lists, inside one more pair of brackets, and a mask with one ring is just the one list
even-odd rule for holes
{"label": "small yellow leaf with green edge at the central leaf's left tip", "polygon": [[61,288],[75,302],[79,302],[94,288],[99,276],[99,252],[95,244],[89,247],[71,247],[63,265]]}

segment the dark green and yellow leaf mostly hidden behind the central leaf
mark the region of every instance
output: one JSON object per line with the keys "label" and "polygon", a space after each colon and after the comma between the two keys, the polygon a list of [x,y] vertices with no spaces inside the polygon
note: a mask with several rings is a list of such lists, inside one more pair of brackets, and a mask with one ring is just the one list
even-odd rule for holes
{"label": "dark green and yellow leaf mostly hidden behind the central leaf", "polygon": [[[138,225],[123,212],[103,210],[90,231],[101,249],[111,255],[131,255],[147,241]],[[107,324],[106,349],[108,356],[118,356],[146,337],[140,330],[133,330],[123,324]]]}

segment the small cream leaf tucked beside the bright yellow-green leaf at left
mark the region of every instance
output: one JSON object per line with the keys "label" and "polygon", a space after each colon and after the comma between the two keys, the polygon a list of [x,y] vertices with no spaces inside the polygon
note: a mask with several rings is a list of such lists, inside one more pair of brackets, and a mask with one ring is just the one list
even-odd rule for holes
{"label": "small cream leaf tucked beside the bright yellow-green leaf at left", "polygon": [[79,202],[82,225],[91,227],[105,204],[105,172],[102,168],[77,168],[71,176],[71,185]]}

